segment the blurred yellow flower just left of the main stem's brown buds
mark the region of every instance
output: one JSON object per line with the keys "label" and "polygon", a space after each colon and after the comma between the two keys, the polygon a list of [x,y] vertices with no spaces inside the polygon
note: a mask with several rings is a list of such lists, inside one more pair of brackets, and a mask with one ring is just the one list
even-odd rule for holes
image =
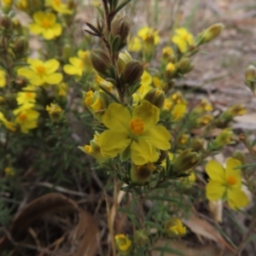
{"label": "blurred yellow flower just left of the main stem's brown buds", "polygon": [[77,75],[81,77],[84,72],[90,73],[92,67],[90,65],[90,51],[79,50],[78,57],[70,57],[68,61],[71,64],[67,64],[63,67],[65,73],[69,75]]}

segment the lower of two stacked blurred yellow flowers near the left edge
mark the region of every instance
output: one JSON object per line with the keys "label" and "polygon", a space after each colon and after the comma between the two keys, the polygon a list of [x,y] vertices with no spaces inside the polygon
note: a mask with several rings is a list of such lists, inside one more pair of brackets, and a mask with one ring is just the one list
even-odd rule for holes
{"label": "lower of two stacked blurred yellow flowers near the left edge", "polygon": [[30,108],[16,108],[13,113],[16,116],[15,123],[20,125],[21,132],[27,133],[38,126],[38,111]]}

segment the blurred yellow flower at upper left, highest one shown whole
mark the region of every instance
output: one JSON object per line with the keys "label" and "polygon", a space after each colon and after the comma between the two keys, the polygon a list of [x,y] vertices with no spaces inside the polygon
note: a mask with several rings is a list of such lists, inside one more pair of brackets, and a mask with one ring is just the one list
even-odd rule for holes
{"label": "blurred yellow flower at upper left, highest one shown whole", "polygon": [[29,29],[32,33],[40,35],[47,40],[59,37],[62,32],[60,24],[56,23],[56,16],[50,13],[44,13],[38,11],[33,14],[34,23],[29,25]]}

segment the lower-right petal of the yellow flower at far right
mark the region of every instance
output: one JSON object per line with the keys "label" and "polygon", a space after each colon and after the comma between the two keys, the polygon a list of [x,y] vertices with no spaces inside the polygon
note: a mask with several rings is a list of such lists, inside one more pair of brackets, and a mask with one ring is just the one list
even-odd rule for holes
{"label": "lower-right petal of the yellow flower at far right", "polygon": [[228,203],[230,208],[236,210],[236,208],[246,207],[249,200],[241,189],[229,189]]}

